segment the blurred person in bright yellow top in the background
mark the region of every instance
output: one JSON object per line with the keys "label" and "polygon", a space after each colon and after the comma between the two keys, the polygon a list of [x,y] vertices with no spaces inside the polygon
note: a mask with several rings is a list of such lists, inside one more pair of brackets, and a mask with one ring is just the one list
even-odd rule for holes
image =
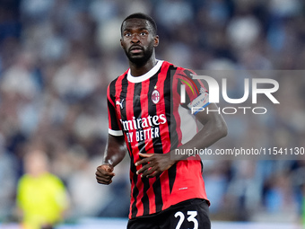
{"label": "blurred person in bright yellow top in the background", "polygon": [[64,183],[48,172],[48,156],[42,151],[33,150],[25,154],[24,171],[17,189],[23,228],[53,228],[63,220],[68,207]]}

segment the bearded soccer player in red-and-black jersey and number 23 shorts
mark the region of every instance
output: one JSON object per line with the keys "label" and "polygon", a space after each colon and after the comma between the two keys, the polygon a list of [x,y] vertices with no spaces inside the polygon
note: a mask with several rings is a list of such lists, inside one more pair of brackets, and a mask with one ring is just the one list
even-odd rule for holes
{"label": "bearded soccer player in red-and-black jersey and number 23 shorts", "polygon": [[[126,17],[121,46],[130,68],[109,84],[109,139],[96,179],[110,184],[114,167],[130,156],[131,201],[127,228],[211,228],[200,157],[170,158],[175,149],[204,149],[226,136],[217,112],[190,108],[206,101],[205,87],[192,72],[155,58],[159,44],[153,18],[144,13]],[[185,101],[180,102],[185,85]],[[200,90],[199,90],[199,88]],[[198,131],[196,120],[204,127]]]}

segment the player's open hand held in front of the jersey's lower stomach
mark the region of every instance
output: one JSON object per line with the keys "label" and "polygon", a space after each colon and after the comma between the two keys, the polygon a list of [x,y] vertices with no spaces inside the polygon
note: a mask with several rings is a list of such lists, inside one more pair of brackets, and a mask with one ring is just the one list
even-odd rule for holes
{"label": "player's open hand held in front of the jersey's lower stomach", "polygon": [[176,163],[174,160],[170,160],[169,154],[141,154],[141,157],[144,159],[135,163],[135,166],[140,164],[145,164],[140,170],[136,172],[136,174],[141,174],[141,177],[152,178],[155,177],[162,172],[170,169],[170,167]]}

